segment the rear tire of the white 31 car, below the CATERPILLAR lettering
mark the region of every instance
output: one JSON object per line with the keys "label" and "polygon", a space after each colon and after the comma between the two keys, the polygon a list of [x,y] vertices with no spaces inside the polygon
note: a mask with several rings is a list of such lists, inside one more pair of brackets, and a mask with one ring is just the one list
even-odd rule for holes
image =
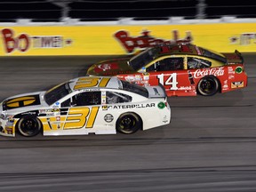
{"label": "rear tire of the white 31 car, below the CATERPILLAR lettering", "polygon": [[132,134],[142,129],[140,116],[134,113],[124,113],[116,121],[116,131],[124,134]]}

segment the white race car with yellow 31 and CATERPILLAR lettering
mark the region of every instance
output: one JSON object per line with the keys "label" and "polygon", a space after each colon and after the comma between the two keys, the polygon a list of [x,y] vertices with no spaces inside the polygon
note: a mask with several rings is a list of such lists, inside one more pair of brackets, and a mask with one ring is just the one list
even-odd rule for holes
{"label": "white race car with yellow 31 and CATERPILLAR lettering", "polygon": [[30,92],[0,104],[0,134],[29,137],[133,133],[169,124],[162,86],[139,86],[110,76],[83,76],[47,92]]}

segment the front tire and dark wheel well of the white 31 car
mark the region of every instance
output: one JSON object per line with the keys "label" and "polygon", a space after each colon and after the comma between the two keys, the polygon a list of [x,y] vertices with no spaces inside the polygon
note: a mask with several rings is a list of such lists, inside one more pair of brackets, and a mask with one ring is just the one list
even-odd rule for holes
{"label": "front tire and dark wheel well of the white 31 car", "polygon": [[42,130],[42,123],[36,116],[22,116],[16,128],[24,137],[36,136]]}

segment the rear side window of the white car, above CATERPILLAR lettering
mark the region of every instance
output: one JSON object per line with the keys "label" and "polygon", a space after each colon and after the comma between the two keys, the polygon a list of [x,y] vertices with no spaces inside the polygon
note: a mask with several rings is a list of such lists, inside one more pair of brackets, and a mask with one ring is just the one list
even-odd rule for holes
{"label": "rear side window of the white car, above CATERPILLAR lettering", "polygon": [[107,104],[131,102],[132,97],[119,92],[106,92]]}

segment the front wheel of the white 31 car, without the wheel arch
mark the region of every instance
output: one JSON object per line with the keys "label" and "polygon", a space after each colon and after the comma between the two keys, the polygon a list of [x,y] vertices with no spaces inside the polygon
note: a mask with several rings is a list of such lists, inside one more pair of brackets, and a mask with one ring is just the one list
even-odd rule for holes
{"label": "front wheel of the white 31 car, without the wheel arch", "polygon": [[24,119],[20,124],[20,132],[25,135],[33,135],[37,132],[38,124],[36,119],[28,118]]}

